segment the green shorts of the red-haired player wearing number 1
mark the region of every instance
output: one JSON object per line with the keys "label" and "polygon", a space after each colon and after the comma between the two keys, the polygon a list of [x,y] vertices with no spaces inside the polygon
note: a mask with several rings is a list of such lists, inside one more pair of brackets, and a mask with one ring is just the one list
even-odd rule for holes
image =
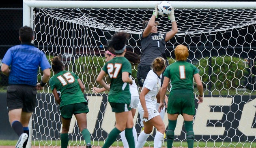
{"label": "green shorts of the red-haired player wearing number 1", "polygon": [[190,90],[171,91],[168,97],[168,114],[195,115],[195,96]]}

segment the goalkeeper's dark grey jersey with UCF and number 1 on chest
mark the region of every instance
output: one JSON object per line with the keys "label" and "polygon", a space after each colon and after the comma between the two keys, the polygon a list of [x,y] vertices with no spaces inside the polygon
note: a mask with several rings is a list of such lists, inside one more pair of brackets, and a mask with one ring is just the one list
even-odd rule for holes
{"label": "goalkeeper's dark grey jersey with UCF and number 1 on chest", "polygon": [[142,46],[140,64],[151,65],[156,57],[167,59],[165,54],[166,34],[152,33],[145,38],[142,38],[141,34],[140,38]]}

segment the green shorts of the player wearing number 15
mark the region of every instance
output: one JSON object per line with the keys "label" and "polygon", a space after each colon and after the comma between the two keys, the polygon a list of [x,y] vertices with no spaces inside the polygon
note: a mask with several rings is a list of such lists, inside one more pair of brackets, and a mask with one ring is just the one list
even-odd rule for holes
{"label": "green shorts of the player wearing number 15", "polygon": [[65,119],[71,119],[73,114],[88,113],[89,108],[86,102],[68,104],[60,107],[60,115]]}

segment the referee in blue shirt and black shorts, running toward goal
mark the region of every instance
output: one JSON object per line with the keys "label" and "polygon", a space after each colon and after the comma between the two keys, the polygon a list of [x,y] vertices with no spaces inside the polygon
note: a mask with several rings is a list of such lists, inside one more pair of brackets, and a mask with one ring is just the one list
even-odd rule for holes
{"label": "referee in blue shirt and black shorts, running toward goal", "polygon": [[[9,76],[7,87],[7,108],[11,127],[19,136],[15,148],[26,148],[28,123],[35,110],[37,90],[41,90],[50,78],[51,65],[45,54],[34,47],[34,34],[31,27],[19,29],[20,45],[8,49],[2,59],[1,70]],[[39,66],[43,71],[41,82],[37,83]]]}

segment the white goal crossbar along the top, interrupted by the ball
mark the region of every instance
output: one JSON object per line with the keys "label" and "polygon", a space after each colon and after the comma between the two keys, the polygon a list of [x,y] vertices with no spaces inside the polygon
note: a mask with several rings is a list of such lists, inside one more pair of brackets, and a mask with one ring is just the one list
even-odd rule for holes
{"label": "white goal crossbar along the top, interrupted by the ball", "polygon": [[[24,0],[29,7],[49,8],[153,8],[161,1],[65,1]],[[174,8],[256,8],[256,2],[172,1]]]}

